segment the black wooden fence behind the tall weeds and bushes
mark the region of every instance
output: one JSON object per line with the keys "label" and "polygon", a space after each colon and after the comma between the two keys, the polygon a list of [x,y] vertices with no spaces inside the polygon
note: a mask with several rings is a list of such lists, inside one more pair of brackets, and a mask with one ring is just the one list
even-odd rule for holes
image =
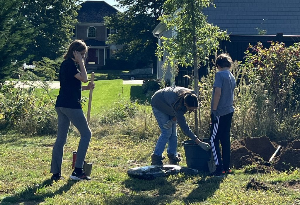
{"label": "black wooden fence behind the tall weeds and bushes", "polygon": [[[229,53],[232,60],[243,61],[244,52],[247,50],[249,44],[256,45],[257,42],[262,42],[262,45],[266,48],[270,47],[269,41],[283,42],[286,47],[293,45],[300,41],[300,35],[283,35],[283,33],[277,33],[277,35],[229,35],[230,41],[221,41],[220,50],[225,53]],[[212,56],[214,57],[214,56]],[[211,60],[209,62],[210,68],[213,66]],[[176,86],[187,87],[191,85],[191,80],[184,75],[192,75],[192,67],[179,67],[179,74],[176,77]],[[207,66],[200,67],[198,69],[199,79],[207,74]]]}

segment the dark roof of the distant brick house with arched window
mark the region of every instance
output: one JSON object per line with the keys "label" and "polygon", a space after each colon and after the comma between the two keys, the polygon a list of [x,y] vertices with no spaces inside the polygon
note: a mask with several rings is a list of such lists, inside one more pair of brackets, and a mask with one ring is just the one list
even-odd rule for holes
{"label": "dark roof of the distant brick house with arched window", "polygon": [[118,12],[104,1],[85,1],[78,11],[76,19],[79,23],[104,23],[104,17]]}

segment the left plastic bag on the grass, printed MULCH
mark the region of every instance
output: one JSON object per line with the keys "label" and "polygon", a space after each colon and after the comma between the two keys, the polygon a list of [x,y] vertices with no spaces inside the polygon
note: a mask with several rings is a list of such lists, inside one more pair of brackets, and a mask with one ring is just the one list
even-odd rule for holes
{"label": "left plastic bag on the grass, printed MULCH", "polygon": [[167,176],[167,171],[161,166],[152,165],[131,168],[127,171],[127,174],[137,179],[155,179],[156,177]]}

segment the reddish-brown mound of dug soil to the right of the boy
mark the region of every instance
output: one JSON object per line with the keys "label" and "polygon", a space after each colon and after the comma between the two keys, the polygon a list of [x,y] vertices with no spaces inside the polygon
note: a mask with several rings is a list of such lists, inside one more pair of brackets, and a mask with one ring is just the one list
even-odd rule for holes
{"label": "reddish-brown mound of dug soil to the right of the boy", "polygon": [[284,140],[274,143],[266,136],[235,140],[231,145],[230,166],[237,169],[249,164],[264,166],[265,162],[269,161],[274,154],[278,145],[281,146],[281,149],[271,162],[271,167],[280,171],[300,167],[300,140]]}

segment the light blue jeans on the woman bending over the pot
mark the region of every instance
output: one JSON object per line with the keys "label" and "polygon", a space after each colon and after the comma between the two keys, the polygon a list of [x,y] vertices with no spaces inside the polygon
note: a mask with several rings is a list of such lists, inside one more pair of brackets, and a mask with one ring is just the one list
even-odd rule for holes
{"label": "light blue jeans on the woman bending over the pot", "polygon": [[167,153],[168,154],[177,154],[177,131],[176,131],[176,123],[172,125],[170,129],[166,129],[163,127],[164,124],[173,116],[170,116],[166,113],[159,111],[157,108],[152,107],[153,114],[155,116],[156,121],[158,122],[159,128],[161,128],[161,135],[158,137],[154,154],[161,156],[164,152],[166,144],[168,143]]}

